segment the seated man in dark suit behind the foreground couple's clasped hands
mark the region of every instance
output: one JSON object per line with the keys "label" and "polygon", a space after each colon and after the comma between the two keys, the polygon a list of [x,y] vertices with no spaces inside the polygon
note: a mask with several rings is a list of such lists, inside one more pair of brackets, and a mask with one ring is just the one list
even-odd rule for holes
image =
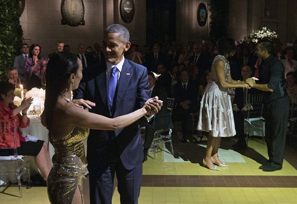
{"label": "seated man in dark suit behind the foreground couple's clasped hands", "polygon": [[165,87],[162,84],[158,83],[158,80],[156,80],[153,72],[149,71],[147,73],[147,78],[149,83],[148,87],[150,97],[154,97],[157,95],[159,99],[163,101],[163,107],[158,113],[154,115],[154,122],[152,125],[148,124],[147,122],[144,123],[145,138],[143,143],[142,162],[147,160],[147,151],[153,140],[154,132],[159,129],[168,129],[173,127],[170,113],[167,109],[167,93]]}

